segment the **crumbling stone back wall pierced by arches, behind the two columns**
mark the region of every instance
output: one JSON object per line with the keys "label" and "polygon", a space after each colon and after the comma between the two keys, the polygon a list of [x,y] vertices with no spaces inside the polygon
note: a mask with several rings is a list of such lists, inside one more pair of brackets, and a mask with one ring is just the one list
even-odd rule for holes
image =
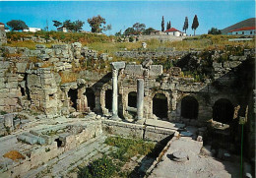
{"label": "crumbling stone back wall pierced by arches, behind the two columns", "polygon": [[[69,114],[74,111],[87,112],[90,110],[100,114],[111,114],[105,108],[105,90],[112,89],[111,73],[99,74],[91,71],[81,71],[77,81],[61,84],[59,72],[72,73],[73,65],[79,66],[79,60],[97,58],[100,56],[107,60],[107,55],[97,55],[96,51],[82,47],[78,42],[71,45],[58,44],[52,48],[36,45],[35,50],[27,48],[2,47],[0,75],[2,76],[0,110],[8,112],[23,109],[32,109],[43,112],[49,116]],[[14,54],[19,54],[18,56]],[[156,55],[156,52],[125,52],[132,55]],[[160,55],[185,55],[189,52],[170,51]],[[191,60],[198,60],[199,52],[192,52]],[[191,53],[191,54],[192,54]],[[137,79],[144,79],[144,117],[157,119],[153,113],[154,97],[162,94],[167,101],[166,120],[200,125],[212,119],[213,105],[221,98],[228,99],[233,106],[240,103],[237,99],[237,89],[230,88],[236,80],[236,68],[252,57],[253,51],[244,52],[243,56],[230,56],[228,61],[213,62],[212,71],[214,79],[205,80],[204,83],[195,83],[193,78],[180,76],[181,69],[173,67],[168,74],[163,73],[162,66],[152,65],[151,61],[143,65],[126,64],[118,72],[118,110],[123,119],[131,119],[128,108],[128,94],[137,91]],[[7,55],[8,54],[8,55]],[[39,62],[29,62],[30,57],[36,57]],[[52,66],[45,66],[45,63]],[[189,63],[189,61],[188,61]],[[69,90],[77,91],[77,98],[73,100],[76,106],[71,107]],[[92,89],[95,96],[95,106],[91,108],[86,96],[86,90]],[[197,120],[182,118],[181,102],[185,96],[194,97],[198,104]],[[134,110],[134,109],[133,109]],[[136,111],[136,108],[135,110]],[[160,118],[159,118],[160,119]]]}

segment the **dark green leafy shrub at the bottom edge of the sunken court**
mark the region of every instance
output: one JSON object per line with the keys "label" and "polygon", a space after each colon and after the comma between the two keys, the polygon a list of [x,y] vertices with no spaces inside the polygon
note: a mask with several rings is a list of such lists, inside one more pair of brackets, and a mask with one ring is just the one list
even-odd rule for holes
{"label": "dark green leafy shrub at the bottom edge of the sunken court", "polygon": [[96,159],[88,166],[84,168],[79,167],[78,177],[79,178],[108,178],[113,175],[116,167],[114,166],[111,159],[105,155],[101,158]]}

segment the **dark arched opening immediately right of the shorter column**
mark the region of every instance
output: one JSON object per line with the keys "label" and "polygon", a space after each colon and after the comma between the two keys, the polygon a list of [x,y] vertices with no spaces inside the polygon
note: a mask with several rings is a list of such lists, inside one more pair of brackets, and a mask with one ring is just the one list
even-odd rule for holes
{"label": "dark arched opening immediately right of the shorter column", "polygon": [[167,118],[167,112],[167,97],[162,93],[155,94],[153,97],[153,114],[160,118]]}

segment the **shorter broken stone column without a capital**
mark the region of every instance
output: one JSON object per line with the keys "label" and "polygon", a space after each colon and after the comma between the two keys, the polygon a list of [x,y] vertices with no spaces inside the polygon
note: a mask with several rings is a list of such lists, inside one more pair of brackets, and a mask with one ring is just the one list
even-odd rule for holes
{"label": "shorter broken stone column without a capital", "polygon": [[144,80],[137,80],[137,118],[138,120],[143,119],[143,107],[144,107]]}

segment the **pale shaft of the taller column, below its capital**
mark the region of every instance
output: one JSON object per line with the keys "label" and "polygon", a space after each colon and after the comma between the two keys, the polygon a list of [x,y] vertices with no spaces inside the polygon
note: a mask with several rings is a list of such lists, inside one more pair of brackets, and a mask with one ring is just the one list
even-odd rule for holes
{"label": "pale shaft of the taller column, below its capital", "polygon": [[113,113],[113,118],[118,118],[118,103],[117,103],[117,96],[118,96],[118,89],[117,89],[117,75],[118,75],[118,70],[113,69],[112,70],[112,113]]}

